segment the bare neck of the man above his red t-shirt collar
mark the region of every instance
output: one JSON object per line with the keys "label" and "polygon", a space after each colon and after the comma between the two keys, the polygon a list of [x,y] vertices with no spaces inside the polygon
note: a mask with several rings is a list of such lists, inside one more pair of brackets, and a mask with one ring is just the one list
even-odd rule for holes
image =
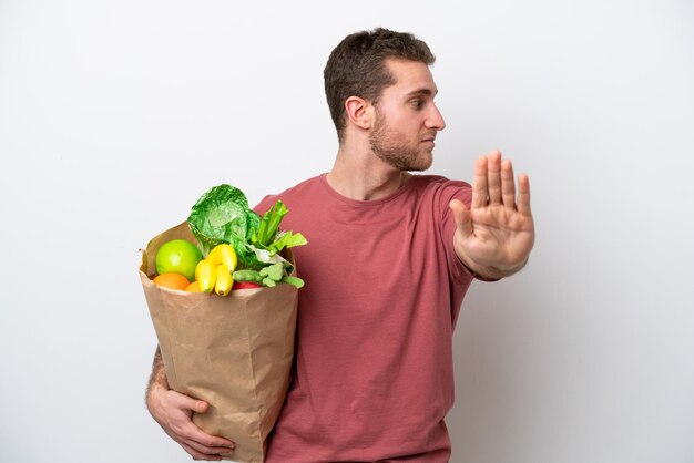
{"label": "bare neck of the man above his red t-shirt collar", "polygon": [[340,195],[355,200],[374,200],[390,196],[410,177],[382,162],[372,153],[359,155],[340,147],[328,173],[328,185]]}

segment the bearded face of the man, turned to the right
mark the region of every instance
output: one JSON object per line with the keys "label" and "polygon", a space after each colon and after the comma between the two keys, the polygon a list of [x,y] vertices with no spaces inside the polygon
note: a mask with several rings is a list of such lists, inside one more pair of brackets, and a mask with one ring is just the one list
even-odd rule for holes
{"label": "bearded face of the man, turned to the right", "polygon": [[396,83],[384,89],[369,141],[374,153],[400,171],[431,166],[433,140],[446,127],[433,97],[437,93],[425,63],[388,60]]}

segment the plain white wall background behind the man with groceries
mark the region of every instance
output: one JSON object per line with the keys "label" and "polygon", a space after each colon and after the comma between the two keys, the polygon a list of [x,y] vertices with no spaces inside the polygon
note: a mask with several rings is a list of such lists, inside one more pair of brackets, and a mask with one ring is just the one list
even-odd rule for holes
{"label": "plain white wall background behind the man with groceries", "polygon": [[330,168],[323,66],[415,32],[447,128],[531,178],[527,269],[455,335],[456,463],[694,462],[687,0],[0,0],[0,461],[187,462],[147,414],[139,248],[231,183]]}

